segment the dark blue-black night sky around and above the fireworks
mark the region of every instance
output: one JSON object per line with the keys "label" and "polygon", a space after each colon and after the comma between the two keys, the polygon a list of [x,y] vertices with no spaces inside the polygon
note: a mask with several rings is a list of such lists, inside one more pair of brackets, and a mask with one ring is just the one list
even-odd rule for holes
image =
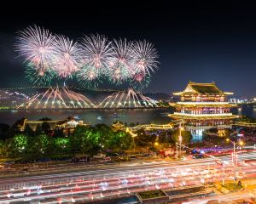
{"label": "dark blue-black night sky around and above the fireworks", "polygon": [[33,8],[21,3],[2,8],[0,88],[29,84],[23,59],[14,51],[15,32],[36,24],[73,39],[100,33],[153,42],[160,69],[145,91],[172,94],[191,80],[216,82],[236,96],[256,96],[256,5],[79,2],[56,6],[39,0]]}

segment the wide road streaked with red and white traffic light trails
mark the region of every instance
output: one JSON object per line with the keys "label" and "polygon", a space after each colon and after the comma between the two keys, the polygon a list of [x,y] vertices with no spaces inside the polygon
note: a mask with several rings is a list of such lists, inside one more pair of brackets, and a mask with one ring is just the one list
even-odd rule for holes
{"label": "wide road streaked with red and white traffic light trails", "polygon": [[[232,179],[231,156],[223,168],[212,158],[187,161],[132,162],[125,167],[0,180],[0,203],[100,201],[138,191],[170,189]],[[243,163],[244,160],[252,160]],[[237,177],[256,176],[256,152],[239,155]]]}

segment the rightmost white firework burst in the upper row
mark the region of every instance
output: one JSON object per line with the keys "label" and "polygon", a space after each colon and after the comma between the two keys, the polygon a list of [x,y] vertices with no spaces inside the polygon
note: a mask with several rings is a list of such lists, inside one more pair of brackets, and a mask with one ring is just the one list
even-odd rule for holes
{"label": "rightmost white firework burst in the upper row", "polygon": [[138,41],[133,43],[132,48],[136,72],[143,71],[150,75],[150,71],[154,72],[158,68],[158,54],[152,43]]}

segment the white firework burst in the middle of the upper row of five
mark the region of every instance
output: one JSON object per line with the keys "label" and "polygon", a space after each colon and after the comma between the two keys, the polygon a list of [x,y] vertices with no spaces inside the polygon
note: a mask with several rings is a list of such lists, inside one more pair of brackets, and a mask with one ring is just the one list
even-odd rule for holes
{"label": "white firework burst in the middle of the upper row of five", "polygon": [[108,38],[98,34],[84,36],[80,43],[88,64],[98,69],[100,73],[106,74],[108,64],[113,58],[113,48]]}

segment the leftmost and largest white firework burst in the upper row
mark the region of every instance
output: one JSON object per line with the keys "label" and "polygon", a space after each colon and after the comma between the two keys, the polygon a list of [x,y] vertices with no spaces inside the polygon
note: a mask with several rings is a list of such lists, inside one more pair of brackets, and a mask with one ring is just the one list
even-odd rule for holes
{"label": "leftmost and largest white firework burst in the upper row", "polygon": [[25,56],[35,69],[43,72],[49,69],[56,54],[55,36],[39,26],[29,26],[18,32],[16,51]]}

